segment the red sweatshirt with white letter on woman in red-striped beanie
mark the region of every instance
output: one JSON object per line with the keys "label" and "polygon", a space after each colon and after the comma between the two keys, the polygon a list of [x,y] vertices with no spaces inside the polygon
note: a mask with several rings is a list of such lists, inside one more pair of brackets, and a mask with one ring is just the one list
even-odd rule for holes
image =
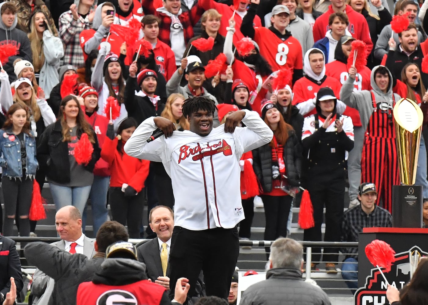
{"label": "red sweatshirt with white letter on woman in red-striped beanie", "polygon": [[[80,105],[80,108],[82,108],[83,113],[85,113],[86,107]],[[95,111],[91,116],[85,113],[85,119],[89,124],[91,124],[92,129],[95,131],[98,139],[98,145],[103,147],[104,141],[106,139],[108,118],[103,115],[98,115],[98,113]],[[108,163],[103,158],[99,158],[97,163],[95,163],[94,175],[101,177],[110,176]]]}

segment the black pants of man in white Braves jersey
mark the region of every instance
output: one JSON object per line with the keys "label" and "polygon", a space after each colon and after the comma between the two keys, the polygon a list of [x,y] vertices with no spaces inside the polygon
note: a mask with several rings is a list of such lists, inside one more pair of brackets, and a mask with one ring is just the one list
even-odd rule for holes
{"label": "black pants of man in white Braves jersey", "polygon": [[[195,284],[202,270],[206,295],[227,299],[238,255],[239,241],[236,227],[191,231],[176,226],[172,232],[169,254],[169,285],[175,287],[178,278],[188,278],[190,284],[188,300],[195,294]],[[171,297],[173,293],[174,289],[171,289]]]}

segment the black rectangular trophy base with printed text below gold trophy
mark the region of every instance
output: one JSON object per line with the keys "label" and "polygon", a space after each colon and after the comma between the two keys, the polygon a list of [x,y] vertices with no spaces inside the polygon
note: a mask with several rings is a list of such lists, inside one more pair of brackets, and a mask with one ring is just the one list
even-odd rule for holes
{"label": "black rectangular trophy base with printed text below gold trophy", "polygon": [[422,186],[392,186],[392,227],[422,228]]}

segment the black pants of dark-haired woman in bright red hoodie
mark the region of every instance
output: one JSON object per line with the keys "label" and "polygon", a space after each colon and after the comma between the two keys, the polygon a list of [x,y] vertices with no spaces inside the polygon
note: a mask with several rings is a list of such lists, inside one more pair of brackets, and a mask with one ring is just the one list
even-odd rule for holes
{"label": "black pants of dark-haired woman in bright red hoodie", "polygon": [[143,218],[144,190],[137,195],[125,197],[121,187],[110,187],[109,203],[113,220],[128,224],[130,238],[140,238],[140,223]]}

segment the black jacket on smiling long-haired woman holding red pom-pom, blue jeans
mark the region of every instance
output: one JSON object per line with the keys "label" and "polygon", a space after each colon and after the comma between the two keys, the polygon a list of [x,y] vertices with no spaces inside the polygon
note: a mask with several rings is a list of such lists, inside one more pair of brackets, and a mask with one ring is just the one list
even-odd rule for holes
{"label": "black jacket on smiling long-haired woman holding red pom-pom, blue jeans", "polygon": [[[92,130],[92,132],[94,132]],[[83,133],[83,129],[77,129],[77,138]],[[95,132],[94,132],[95,135]],[[101,148],[98,145],[97,137],[94,136],[95,143],[92,144],[94,151],[92,159],[84,168],[88,172],[93,172],[95,163],[101,157]],[[46,127],[45,132],[39,136],[37,144],[37,160],[40,167],[46,168],[46,177],[58,184],[70,182],[70,161],[68,160],[68,142],[62,142],[61,121]]]}

